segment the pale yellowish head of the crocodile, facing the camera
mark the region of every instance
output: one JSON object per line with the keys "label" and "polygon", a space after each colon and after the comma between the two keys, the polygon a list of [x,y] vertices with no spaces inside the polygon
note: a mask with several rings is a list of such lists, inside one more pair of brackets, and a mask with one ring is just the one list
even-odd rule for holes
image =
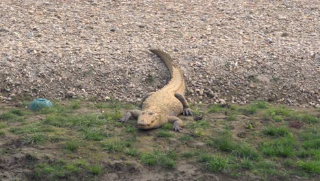
{"label": "pale yellowish head of the crocodile, facing the camera", "polygon": [[143,130],[159,125],[159,114],[152,110],[143,110],[137,119],[137,127]]}

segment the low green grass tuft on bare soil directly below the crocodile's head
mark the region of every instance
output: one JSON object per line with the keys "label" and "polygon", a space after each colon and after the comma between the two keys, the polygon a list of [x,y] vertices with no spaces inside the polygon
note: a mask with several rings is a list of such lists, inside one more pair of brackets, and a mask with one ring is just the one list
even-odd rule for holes
{"label": "low green grass tuft on bare soil directly below the crocodile's head", "polygon": [[173,169],[176,166],[176,153],[172,150],[146,152],[140,156],[140,160],[145,165],[161,165],[167,169]]}

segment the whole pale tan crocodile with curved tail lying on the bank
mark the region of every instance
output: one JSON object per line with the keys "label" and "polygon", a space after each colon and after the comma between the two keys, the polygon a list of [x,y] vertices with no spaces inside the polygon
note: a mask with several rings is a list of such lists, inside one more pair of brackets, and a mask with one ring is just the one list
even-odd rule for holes
{"label": "whole pale tan crocodile with curved tail lying on the bank", "polygon": [[126,122],[131,118],[137,119],[137,127],[142,130],[160,128],[165,123],[173,123],[173,130],[181,132],[183,121],[179,114],[193,115],[185,99],[185,79],[183,71],[172,61],[168,53],[160,49],[150,49],[165,63],[170,71],[171,79],[160,90],[148,93],[142,98],[141,110],[129,110],[120,122]]}

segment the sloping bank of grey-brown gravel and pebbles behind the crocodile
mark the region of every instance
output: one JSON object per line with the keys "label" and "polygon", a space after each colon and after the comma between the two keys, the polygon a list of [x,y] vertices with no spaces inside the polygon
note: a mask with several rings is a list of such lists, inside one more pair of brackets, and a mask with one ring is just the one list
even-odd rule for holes
{"label": "sloping bank of grey-brown gravel and pebbles behind the crocodile", "polygon": [[[296,20],[308,7],[307,1],[292,5],[290,12],[277,8],[282,1],[256,3],[256,10],[247,12],[242,11],[245,3],[230,10],[231,1],[219,1],[220,8],[208,12],[183,1],[174,7],[183,11],[156,12],[161,21],[154,21],[155,14],[148,12],[155,1],[141,8],[133,8],[139,5],[135,1],[90,2],[34,6],[26,1],[0,11],[0,36],[5,40],[0,46],[3,97],[63,98],[66,90],[72,90],[77,97],[103,100],[108,95],[138,103],[135,95],[159,90],[169,80],[168,69],[147,51],[159,48],[168,51],[184,71],[190,102],[219,102],[233,96],[224,101],[285,102],[289,97],[294,104],[320,103],[320,54],[315,48],[317,33],[310,32],[317,29],[316,16],[307,14],[303,21],[308,26]],[[221,17],[212,19],[213,14]],[[272,46],[266,46],[269,43]],[[149,74],[152,82],[146,81]]]}

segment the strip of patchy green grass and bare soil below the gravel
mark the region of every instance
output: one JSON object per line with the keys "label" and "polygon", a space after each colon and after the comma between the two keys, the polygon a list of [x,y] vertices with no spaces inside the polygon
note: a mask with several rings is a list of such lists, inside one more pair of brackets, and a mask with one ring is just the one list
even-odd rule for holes
{"label": "strip of patchy green grass and bare soil below the gravel", "polygon": [[[87,104],[71,99],[69,103],[57,101],[55,107],[39,112],[3,109],[0,137],[12,138],[14,134],[18,137],[13,142],[16,147],[32,147],[35,156],[42,152],[38,147],[59,150],[55,154],[66,160],[49,156],[30,158],[36,180],[75,180],[79,175],[88,180],[100,178],[108,169],[98,162],[106,155],[124,165],[126,161],[139,160],[135,164],[158,165],[163,169],[174,169],[181,160],[187,164],[199,162],[194,165],[203,167],[200,170],[204,172],[222,171],[232,178],[299,176],[307,180],[319,174],[319,122],[314,112],[296,112],[257,101],[249,106],[212,105],[211,112],[218,114],[211,114],[200,105],[194,109],[202,119],[183,120],[183,131],[176,133],[172,123],[144,131],[135,128],[133,121],[118,122],[126,108],[132,107],[128,104],[124,110],[123,105],[115,100]],[[79,112],[80,108],[87,110]],[[23,121],[14,121],[17,117]],[[243,119],[244,124],[240,124]],[[304,122],[304,127],[299,131],[289,127],[292,121]],[[239,129],[243,130],[238,132]],[[155,151],[148,151],[152,149]],[[0,154],[10,156],[17,150],[5,145]],[[73,161],[75,158],[81,159]]]}

